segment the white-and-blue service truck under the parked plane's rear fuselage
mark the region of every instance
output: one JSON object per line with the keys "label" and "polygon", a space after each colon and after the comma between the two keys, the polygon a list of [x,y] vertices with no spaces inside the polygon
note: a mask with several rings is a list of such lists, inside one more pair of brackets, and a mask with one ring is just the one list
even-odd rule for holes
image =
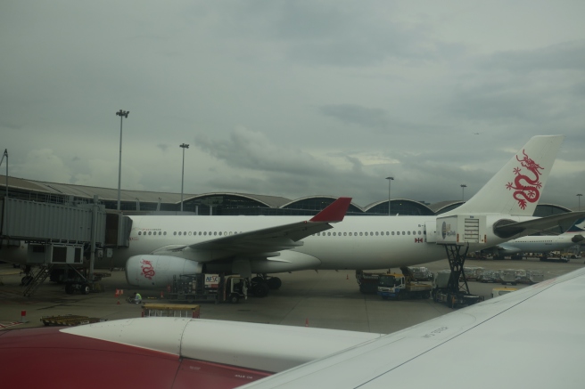
{"label": "white-and-blue service truck under the parked plane's rear fuselage", "polygon": [[407,267],[401,267],[402,274],[382,274],[378,278],[378,295],[382,298],[429,298],[433,287],[429,284],[414,282]]}

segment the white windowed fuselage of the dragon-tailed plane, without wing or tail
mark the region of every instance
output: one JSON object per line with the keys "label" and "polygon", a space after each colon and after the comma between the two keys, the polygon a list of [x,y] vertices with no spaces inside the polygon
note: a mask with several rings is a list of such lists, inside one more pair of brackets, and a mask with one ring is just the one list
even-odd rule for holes
{"label": "white windowed fuselage of the dragon-tailed plane, without wing or tail", "polygon": [[[297,223],[296,216],[131,216],[133,227],[128,248],[116,250],[114,263],[122,265],[132,255],[151,254],[169,245],[194,245],[245,231]],[[531,217],[510,217],[516,221]],[[502,215],[488,216],[494,223]],[[435,216],[346,216],[334,228],[302,239],[303,245],[283,250],[268,260],[251,261],[252,272],[282,272],[308,269],[372,270],[445,258],[445,248],[427,237],[426,225],[436,223]],[[487,244],[471,244],[470,251],[506,241],[493,235]],[[295,256],[295,253],[302,255]],[[207,253],[212,255],[211,253]],[[177,255],[183,256],[185,255]],[[187,257],[207,262],[204,255]],[[301,259],[300,259],[301,258]]]}

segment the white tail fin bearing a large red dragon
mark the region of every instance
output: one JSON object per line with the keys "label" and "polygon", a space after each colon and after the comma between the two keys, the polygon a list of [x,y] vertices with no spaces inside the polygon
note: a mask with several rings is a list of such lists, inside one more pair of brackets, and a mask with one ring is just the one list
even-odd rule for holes
{"label": "white tail fin bearing a large red dragon", "polygon": [[564,135],[532,137],[473,198],[449,214],[531,216],[563,140]]}

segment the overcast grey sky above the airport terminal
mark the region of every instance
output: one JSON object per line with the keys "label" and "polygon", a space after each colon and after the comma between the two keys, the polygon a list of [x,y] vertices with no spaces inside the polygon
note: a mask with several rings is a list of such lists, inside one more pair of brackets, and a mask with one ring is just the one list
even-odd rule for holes
{"label": "overcast grey sky above the airport terminal", "polygon": [[[300,199],[466,199],[565,134],[542,202],[585,191],[585,2],[0,3],[9,174]],[[4,174],[4,164],[0,172]],[[583,199],[585,206],[585,199]]]}

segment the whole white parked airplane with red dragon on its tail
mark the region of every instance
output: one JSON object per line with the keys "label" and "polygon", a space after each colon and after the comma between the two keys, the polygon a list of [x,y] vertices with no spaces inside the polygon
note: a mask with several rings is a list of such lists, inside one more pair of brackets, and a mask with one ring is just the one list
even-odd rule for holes
{"label": "whole white parked airplane with red dragon on its tail", "polygon": [[[446,257],[444,243],[471,251],[501,244],[575,220],[585,212],[532,217],[564,136],[535,136],[482,190],[439,216],[346,216],[338,199],[307,221],[296,216],[130,216],[128,283],[165,288],[179,274],[267,274],[301,270],[371,270],[409,266]],[[340,222],[333,228],[327,222]],[[467,227],[466,227],[467,226]],[[330,231],[329,231],[330,230]],[[257,281],[259,278],[256,278]]]}

